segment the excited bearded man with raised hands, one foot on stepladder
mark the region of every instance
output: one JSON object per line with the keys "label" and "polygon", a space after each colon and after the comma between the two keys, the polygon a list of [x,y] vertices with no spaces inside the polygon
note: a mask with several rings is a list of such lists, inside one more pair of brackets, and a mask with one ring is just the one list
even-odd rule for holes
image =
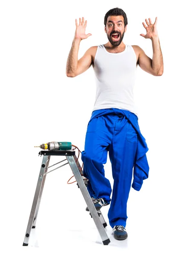
{"label": "excited bearded man with raised hands, one foot on stepladder", "polygon": [[[137,45],[123,43],[127,29],[127,17],[122,9],[109,10],[104,17],[105,32],[109,42],[90,47],[80,60],[80,41],[92,34],[85,34],[87,21],[76,23],[75,37],[66,65],[66,75],[75,77],[91,65],[96,79],[96,100],[89,120],[85,150],[82,151],[83,175],[88,179],[87,189],[96,209],[110,204],[108,218],[118,240],[127,238],[126,204],[132,187],[140,190],[148,177],[146,159],[148,147],[138,125],[138,113],[134,104],[133,87],[137,65],[153,76],[163,74],[163,57],[155,23],[146,19],[144,38],[152,41],[153,56],[149,58]],[[104,175],[103,164],[107,153],[112,164],[113,190]],[[134,171],[133,171],[134,167]],[[112,200],[110,195],[112,192]],[[86,210],[89,211],[88,207]]]}

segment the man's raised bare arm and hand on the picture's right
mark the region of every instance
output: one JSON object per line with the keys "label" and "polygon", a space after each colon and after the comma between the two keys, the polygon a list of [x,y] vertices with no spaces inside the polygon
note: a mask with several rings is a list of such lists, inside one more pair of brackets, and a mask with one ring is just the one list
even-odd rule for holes
{"label": "man's raised bare arm and hand on the picture's right", "polygon": [[141,34],[144,38],[149,38],[152,41],[153,48],[153,56],[152,59],[149,58],[143,49],[138,47],[139,56],[138,56],[138,64],[142,70],[147,73],[152,74],[153,76],[162,76],[163,74],[163,55],[161,52],[160,42],[158,38],[158,32],[156,29],[157,17],[155,23],[153,24],[151,19],[149,18],[149,22],[146,19],[146,24],[143,22],[144,28],[146,29],[146,35]]}

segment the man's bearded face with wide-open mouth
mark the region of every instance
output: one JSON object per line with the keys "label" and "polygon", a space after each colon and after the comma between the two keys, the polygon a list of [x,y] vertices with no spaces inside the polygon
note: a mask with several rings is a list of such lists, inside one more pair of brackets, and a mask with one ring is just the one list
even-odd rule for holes
{"label": "man's bearded face with wide-open mouth", "polygon": [[[109,16],[104,29],[109,42],[113,46],[120,45],[123,40],[124,33],[126,32],[126,27],[124,28],[123,16]],[[118,35],[113,35],[115,33]]]}

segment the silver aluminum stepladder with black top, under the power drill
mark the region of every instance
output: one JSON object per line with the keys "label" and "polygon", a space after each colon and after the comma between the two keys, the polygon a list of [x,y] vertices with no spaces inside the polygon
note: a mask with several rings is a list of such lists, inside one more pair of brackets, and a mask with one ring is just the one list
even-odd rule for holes
{"label": "silver aluminum stepladder with black top, under the power drill", "polygon": [[[32,204],[32,209],[30,212],[30,216],[29,216],[29,222],[27,225],[27,229],[26,229],[26,235],[25,235],[25,239],[23,241],[23,246],[28,246],[29,244],[29,236],[30,236],[30,232],[32,228],[35,228],[36,225],[36,221],[37,221],[37,214],[38,214],[38,210],[40,207],[40,201],[41,201],[41,196],[42,196],[42,192],[43,192],[43,187],[44,187],[44,183],[45,183],[45,179],[46,179],[46,174],[48,174],[49,172],[52,172],[62,166],[65,166],[66,164],[69,164],[72,172],[75,176],[75,179],[77,181],[77,185],[80,188],[82,195],[86,201],[87,207],[89,208],[89,212],[91,217],[93,218],[96,227],[98,229],[98,232],[100,234],[101,240],[103,242],[104,245],[108,245],[110,243],[110,240],[106,234],[105,231],[105,227],[107,226],[106,221],[103,218],[103,215],[101,213],[101,211],[97,211],[93,202],[92,202],[92,198],[89,195],[89,192],[86,188],[86,181],[83,180],[83,171],[80,167],[80,163],[77,160],[77,157],[75,155],[75,151],[70,151],[70,150],[55,150],[55,151],[50,151],[50,150],[44,150],[44,151],[40,151],[39,155],[43,155],[43,160],[42,160],[42,164],[41,164],[41,168],[40,168],[40,174],[38,177],[38,181],[37,181],[37,187],[36,187],[36,191],[34,194],[34,200],[33,200],[33,204]],[[59,163],[67,160],[68,163],[63,164],[62,166],[59,166],[55,169],[53,169],[52,171],[48,171],[48,169],[52,166],[49,166],[49,160],[51,156],[66,156],[66,159],[60,161]]]}

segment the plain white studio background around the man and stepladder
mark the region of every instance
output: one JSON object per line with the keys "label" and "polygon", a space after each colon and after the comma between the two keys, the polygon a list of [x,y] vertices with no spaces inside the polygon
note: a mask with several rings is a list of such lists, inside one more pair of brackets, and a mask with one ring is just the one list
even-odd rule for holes
{"label": "plain white studio background around the man and stepladder", "polygon": [[[124,44],[139,45],[152,58],[145,19],[155,22],[164,59],[164,74],[152,76],[138,66],[135,104],[149,151],[149,178],[140,192],[131,188],[128,239],[117,241],[107,219],[111,243],[103,247],[98,230],[76,183],[64,166],[46,177],[36,229],[23,247],[40,172],[40,148],[49,141],[68,141],[84,150],[86,128],[95,102],[93,68],[75,78],[66,76],[66,61],[75,35],[75,18],[87,20],[78,59],[94,45],[108,42],[104,16],[121,8],[128,18]],[[1,85],[1,245],[2,255],[122,253],[177,255],[178,125],[177,10],[173,1],[2,0],[0,3]],[[78,151],[76,151],[78,155]],[[81,155],[80,155],[81,156]],[[63,157],[52,157],[56,163]],[[80,158],[79,158],[80,159]],[[80,164],[82,165],[81,159]],[[113,184],[111,163],[106,177]],[[74,181],[75,179],[73,178]],[[155,253],[155,254],[154,254]],[[35,254],[35,255],[36,255]]]}

